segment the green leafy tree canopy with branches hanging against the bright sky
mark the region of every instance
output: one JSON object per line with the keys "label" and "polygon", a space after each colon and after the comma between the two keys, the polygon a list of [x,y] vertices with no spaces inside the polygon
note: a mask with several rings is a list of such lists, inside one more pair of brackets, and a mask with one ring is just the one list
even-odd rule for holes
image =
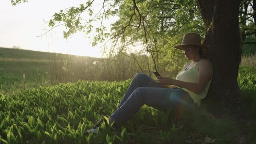
{"label": "green leafy tree canopy with branches hanging against the bright sky", "polygon": [[[11,0],[12,5],[28,0]],[[64,38],[69,38],[78,31],[86,34],[94,31],[92,46],[111,40],[113,48],[124,50],[128,46],[140,43],[152,59],[158,64],[175,64],[184,60],[175,59],[181,52],[171,47],[179,44],[183,34],[198,32],[205,34],[205,26],[195,0],[102,0],[101,10],[93,11],[95,0],[87,0],[79,6],[71,6],[60,10],[48,21],[48,25],[55,28],[65,25]],[[242,0],[240,4],[240,31],[243,44],[256,45],[256,12],[255,0]],[[89,18],[81,16],[89,14]],[[104,26],[104,19],[118,16],[119,20],[112,24],[111,32]],[[92,22],[101,22],[99,27]],[[252,41],[246,39],[248,37]],[[167,62],[167,59],[171,63]],[[176,60],[176,61],[175,61]],[[178,60],[178,61],[177,61]],[[155,67],[158,65],[156,64]]]}

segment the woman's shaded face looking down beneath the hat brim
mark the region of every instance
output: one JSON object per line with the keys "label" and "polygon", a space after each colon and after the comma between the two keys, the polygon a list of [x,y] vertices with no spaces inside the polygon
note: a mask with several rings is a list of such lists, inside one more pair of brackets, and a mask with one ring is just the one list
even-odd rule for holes
{"label": "woman's shaded face looking down beneath the hat brim", "polygon": [[198,46],[183,45],[182,48],[183,48],[184,55],[187,57],[188,60],[192,60],[199,55]]}

